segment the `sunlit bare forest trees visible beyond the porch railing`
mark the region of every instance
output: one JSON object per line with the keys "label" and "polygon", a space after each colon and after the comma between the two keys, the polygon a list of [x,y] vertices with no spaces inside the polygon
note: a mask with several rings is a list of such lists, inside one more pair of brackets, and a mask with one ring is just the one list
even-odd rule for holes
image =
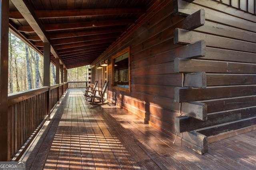
{"label": "sunlit bare forest trees visible beyond the porch railing", "polygon": [[[44,59],[9,32],[8,94],[40,88],[44,80]],[[88,81],[89,65],[68,69],[68,81]],[[56,67],[51,63],[51,85],[56,84]],[[60,70],[59,70],[60,71]],[[61,81],[60,81],[61,82]]]}

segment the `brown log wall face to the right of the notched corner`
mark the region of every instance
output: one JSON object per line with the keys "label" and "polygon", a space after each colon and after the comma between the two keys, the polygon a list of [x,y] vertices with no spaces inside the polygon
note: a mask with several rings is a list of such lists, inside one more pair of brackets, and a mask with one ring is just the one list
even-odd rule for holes
{"label": "brown log wall face to the right of the notched corner", "polygon": [[[204,9],[206,17],[205,24],[192,31],[180,27],[175,30],[177,44],[206,42],[205,56],[174,61],[178,73],[206,72],[207,84],[206,88],[175,89],[175,100],[205,103],[208,112],[206,121],[186,116],[176,119],[179,132],[194,130],[211,136],[256,124],[256,16],[251,9],[253,14],[244,12],[248,11],[244,7],[236,9],[238,5],[226,5],[237,4],[238,0],[222,1],[176,1],[178,15],[185,17]],[[248,1],[240,2],[244,6]],[[235,124],[230,126],[233,129],[227,127],[229,123]]]}

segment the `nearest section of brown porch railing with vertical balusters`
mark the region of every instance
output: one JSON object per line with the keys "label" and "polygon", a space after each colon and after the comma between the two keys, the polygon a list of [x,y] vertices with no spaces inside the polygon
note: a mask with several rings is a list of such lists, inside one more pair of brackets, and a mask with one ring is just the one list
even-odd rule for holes
{"label": "nearest section of brown porch railing with vertical balusters", "polygon": [[8,120],[10,122],[8,148],[11,159],[47,115],[48,88],[28,90],[8,96]]}

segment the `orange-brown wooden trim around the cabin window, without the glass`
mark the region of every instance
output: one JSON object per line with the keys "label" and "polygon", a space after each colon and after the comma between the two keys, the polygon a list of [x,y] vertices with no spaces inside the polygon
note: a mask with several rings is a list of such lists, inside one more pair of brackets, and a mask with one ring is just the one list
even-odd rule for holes
{"label": "orange-brown wooden trim around the cabin window, without the glass", "polygon": [[[123,55],[124,53],[128,52],[128,81],[129,81],[129,88],[124,88],[124,87],[118,87],[114,86],[114,77],[115,77],[115,72],[114,72],[114,59],[119,57],[120,55]],[[121,90],[125,92],[130,92],[131,91],[131,69],[130,69],[130,46],[126,47],[122,51],[116,53],[115,55],[112,56],[112,89],[116,90]]]}

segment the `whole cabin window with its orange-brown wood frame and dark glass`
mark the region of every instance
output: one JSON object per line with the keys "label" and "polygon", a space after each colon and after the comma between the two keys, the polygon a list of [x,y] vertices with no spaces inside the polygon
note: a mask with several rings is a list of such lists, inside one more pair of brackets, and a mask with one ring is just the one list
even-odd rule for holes
{"label": "whole cabin window with its orange-brown wood frame and dark glass", "polygon": [[112,56],[113,89],[130,92],[130,47]]}

